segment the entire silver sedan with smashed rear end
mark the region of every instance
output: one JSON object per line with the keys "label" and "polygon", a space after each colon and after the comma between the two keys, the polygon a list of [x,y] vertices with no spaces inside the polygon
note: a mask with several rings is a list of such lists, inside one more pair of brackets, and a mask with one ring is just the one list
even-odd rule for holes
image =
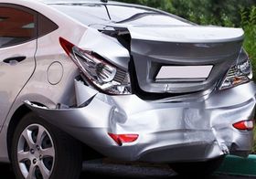
{"label": "entire silver sedan with smashed rear end", "polygon": [[208,174],[248,156],[243,36],[142,5],[0,0],[0,161],[17,178],[75,179],[98,157]]}

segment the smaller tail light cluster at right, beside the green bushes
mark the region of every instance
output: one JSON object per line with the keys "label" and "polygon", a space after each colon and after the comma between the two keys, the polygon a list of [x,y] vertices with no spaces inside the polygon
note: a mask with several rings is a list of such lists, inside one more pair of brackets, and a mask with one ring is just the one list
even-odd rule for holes
{"label": "smaller tail light cluster at right, beside the green bushes", "polygon": [[251,61],[246,52],[241,49],[237,64],[229,69],[219,89],[229,89],[252,79]]}

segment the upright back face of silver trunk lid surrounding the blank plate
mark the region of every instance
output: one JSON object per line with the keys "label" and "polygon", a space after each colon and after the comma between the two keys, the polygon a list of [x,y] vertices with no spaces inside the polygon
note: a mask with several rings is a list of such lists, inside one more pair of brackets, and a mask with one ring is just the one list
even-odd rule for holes
{"label": "upright back face of silver trunk lid surrounding the blank plate", "polygon": [[[147,92],[183,93],[206,90],[222,79],[239,56],[240,42],[208,43],[197,47],[195,43],[173,43],[132,39],[131,55],[141,89]],[[162,66],[207,66],[213,68],[203,81],[158,82],[155,77]],[[144,67],[144,68],[141,68]]]}

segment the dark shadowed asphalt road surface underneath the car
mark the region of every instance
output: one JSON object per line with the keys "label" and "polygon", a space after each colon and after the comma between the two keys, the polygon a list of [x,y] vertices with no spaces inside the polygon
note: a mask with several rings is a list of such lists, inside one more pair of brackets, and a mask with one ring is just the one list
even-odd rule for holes
{"label": "dark shadowed asphalt road surface underneath the car", "polygon": [[[80,179],[91,179],[101,177],[101,179],[184,179],[178,176],[165,165],[144,165],[127,163],[84,163],[83,173]],[[10,166],[0,164],[1,179],[15,179]],[[190,178],[190,177],[189,177]],[[186,179],[186,178],[185,178]],[[207,179],[250,179],[250,177],[230,176],[214,174]]]}

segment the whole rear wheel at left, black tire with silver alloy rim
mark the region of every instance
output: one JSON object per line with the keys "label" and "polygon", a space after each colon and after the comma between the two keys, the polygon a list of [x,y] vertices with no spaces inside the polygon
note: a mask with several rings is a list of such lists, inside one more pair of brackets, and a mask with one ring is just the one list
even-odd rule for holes
{"label": "whole rear wheel at left, black tire with silver alloy rim", "polygon": [[11,149],[11,161],[18,179],[80,177],[80,142],[32,112],[18,123]]}

